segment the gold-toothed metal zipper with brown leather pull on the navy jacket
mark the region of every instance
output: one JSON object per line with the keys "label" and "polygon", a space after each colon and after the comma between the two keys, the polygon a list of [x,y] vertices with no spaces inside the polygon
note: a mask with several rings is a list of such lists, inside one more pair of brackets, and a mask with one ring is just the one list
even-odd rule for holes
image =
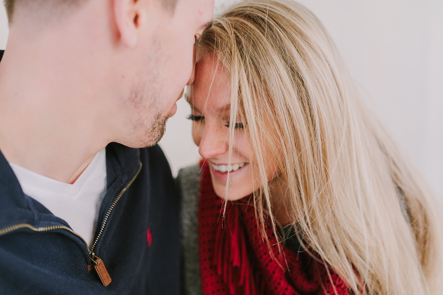
{"label": "gold-toothed metal zipper with brown leather pull on the navy jacket", "polygon": [[28,223],[19,223],[19,224],[13,225],[13,226],[8,226],[7,228],[4,228],[3,230],[0,230],[0,236],[3,236],[5,234],[8,234],[8,233],[14,231],[14,230],[19,230],[22,228],[27,228],[27,229],[33,230],[35,232],[44,232],[44,231],[49,231],[49,230],[67,230],[71,234],[76,235],[78,238],[80,238],[83,241],[83,243],[86,246],[86,249],[88,249],[89,255],[91,257],[91,261],[94,264],[94,268],[97,271],[97,274],[100,277],[101,282],[106,287],[111,283],[111,281],[112,281],[111,277],[109,276],[109,273],[106,270],[105,264],[103,263],[103,261],[100,258],[98,258],[97,256],[95,256],[93,249],[97,245],[97,241],[100,239],[101,234],[103,233],[103,230],[105,229],[106,222],[108,222],[109,215],[111,215],[111,212],[114,210],[115,205],[117,204],[117,202],[121,198],[121,196],[124,194],[124,192],[126,192],[128,190],[128,188],[131,186],[131,184],[136,180],[137,176],[140,174],[141,167],[142,167],[142,164],[140,162],[140,166],[139,166],[139,169],[138,169],[136,175],[134,175],[134,177],[132,177],[131,181],[129,181],[129,183],[121,190],[121,192],[114,199],[114,202],[112,203],[111,207],[109,207],[108,212],[106,212],[105,219],[103,220],[103,223],[101,224],[100,232],[98,233],[97,238],[94,240],[94,243],[91,246],[91,249],[89,249],[88,243],[85,241],[85,239],[81,235],[77,234],[71,228],[69,228],[67,226],[63,226],[63,225],[35,227],[35,226],[31,226]]}

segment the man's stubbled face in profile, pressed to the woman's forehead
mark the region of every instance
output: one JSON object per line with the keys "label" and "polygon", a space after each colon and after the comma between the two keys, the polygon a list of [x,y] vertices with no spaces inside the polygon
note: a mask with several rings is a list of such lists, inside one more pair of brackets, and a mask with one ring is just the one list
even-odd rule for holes
{"label": "man's stubbled face in profile, pressed to the woman's forehead", "polygon": [[160,1],[150,1],[147,23],[140,24],[144,28],[128,61],[135,76],[120,103],[127,131],[121,143],[126,146],[152,146],[162,138],[194,69],[195,40],[214,12],[214,0],[178,0],[174,11]]}

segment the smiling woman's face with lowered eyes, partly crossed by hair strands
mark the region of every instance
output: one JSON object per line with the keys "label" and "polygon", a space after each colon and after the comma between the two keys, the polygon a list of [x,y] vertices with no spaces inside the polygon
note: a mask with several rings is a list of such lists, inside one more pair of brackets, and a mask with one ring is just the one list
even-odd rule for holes
{"label": "smiling woman's face with lowered eyes, partly crossed by hair strands", "polygon": [[[188,101],[191,105],[192,137],[200,155],[210,165],[215,193],[225,196],[229,173],[229,200],[238,200],[260,188],[259,169],[249,148],[243,122],[234,122],[231,165],[229,161],[229,115],[231,90],[229,76],[214,59],[203,57],[196,65],[195,80]],[[275,158],[265,151],[268,180],[276,174]]]}

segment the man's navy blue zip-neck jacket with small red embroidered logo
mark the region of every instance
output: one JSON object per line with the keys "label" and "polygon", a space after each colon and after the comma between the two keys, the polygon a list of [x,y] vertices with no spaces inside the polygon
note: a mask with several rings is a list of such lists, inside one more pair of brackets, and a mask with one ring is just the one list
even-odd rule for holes
{"label": "man's navy blue zip-neck jacket with small red embroidered logo", "polygon": [[[106,170],[95,245],[88,249],[64,220],[23,193],[0,153],[1,295],[179,293],[179,199],[163,152],[111,143]],[[109,272],[107,287],[91,250]]]}

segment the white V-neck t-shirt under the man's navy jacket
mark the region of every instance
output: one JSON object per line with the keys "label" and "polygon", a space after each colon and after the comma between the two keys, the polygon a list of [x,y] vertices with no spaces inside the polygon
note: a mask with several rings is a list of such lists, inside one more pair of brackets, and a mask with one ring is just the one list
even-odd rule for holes
{"label": "white V-neck t-shirt under the man's navy jacket", "polygon": [[9,163],[23,192],[52,214],[68,222],[89,246],[93,243],[98,211],[106,192],[106,151],[102,149],[74,184],[54,180]]}

